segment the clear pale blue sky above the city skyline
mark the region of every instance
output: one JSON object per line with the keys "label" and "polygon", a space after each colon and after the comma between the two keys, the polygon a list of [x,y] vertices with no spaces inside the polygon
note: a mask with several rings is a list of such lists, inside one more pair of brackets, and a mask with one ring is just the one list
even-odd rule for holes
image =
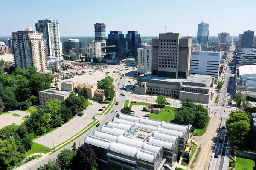
{"label": "clear pale blue sky above the city skyline", "polygon": [[94,36],[95,23],[106,24],[106,35],[118,30],[158,36],[166,26],[166,32],[196,36],[202,20],[209,23],[210,36],[238,36],[249,28],[256,31],[255,11],[256,0],[6,0],[0,36],[35,30],[46,18],[58,20],[61,36]]}

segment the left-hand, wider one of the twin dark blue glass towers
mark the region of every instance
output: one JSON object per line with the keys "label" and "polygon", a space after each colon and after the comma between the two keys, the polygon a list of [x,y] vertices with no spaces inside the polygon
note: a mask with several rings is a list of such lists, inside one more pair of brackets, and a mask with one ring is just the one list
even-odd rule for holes
{"label": "left-hand, wider one of the twin dark blue glass towers", "polygon": [[[108,39],[106,40],[106,46],[115,45],[116,47],[107,48],[107,59],[118,59],[122,60],[126,57],[125,51],[125,35],[122,34],[122,31],[110,31],[108,34]],[[115,52],[115,58],[112,54]]]}

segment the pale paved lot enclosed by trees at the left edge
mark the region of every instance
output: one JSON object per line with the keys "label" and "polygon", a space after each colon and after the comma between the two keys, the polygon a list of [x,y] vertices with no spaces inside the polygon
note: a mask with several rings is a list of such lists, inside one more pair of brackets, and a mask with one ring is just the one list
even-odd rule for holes
{"label": "pale paved lot enclosed by trees at the left edge", "polygon": [[[15,123],[15,125],[20,125],[22,122],[24,122],[22,120],[23,117],[29,115],[29,113],[23,112],[23,111],[18,111],[18,110],[14,110],[14,111],[10,111],[11,113],[9,114],[2,114],[0,115],[0,129],[2,129],[3,127],[7,126],[7,125],[11,125],[12,123]],[[20,117],[17,116],[13,116],[12,114],[16,113],[21,115]]]}

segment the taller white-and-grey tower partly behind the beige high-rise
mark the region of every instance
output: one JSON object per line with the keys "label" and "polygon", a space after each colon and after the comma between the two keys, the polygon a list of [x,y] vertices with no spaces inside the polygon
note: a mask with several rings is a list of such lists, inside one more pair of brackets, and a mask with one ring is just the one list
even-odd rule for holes
{"label": "taller white-and-grey tower partly behind the beige high-rise", "polygon": [[55,67],[58,69],[60,67],[59,62],[63,60],[58,20],[39,20],[38,23],[35,23],[35,29],[44,34],[47,60],[48,62],[54,62]]}

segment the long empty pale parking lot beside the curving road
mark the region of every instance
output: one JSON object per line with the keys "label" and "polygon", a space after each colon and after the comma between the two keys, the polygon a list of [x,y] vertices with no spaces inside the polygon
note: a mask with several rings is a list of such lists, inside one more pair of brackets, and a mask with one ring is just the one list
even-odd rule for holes
{"label": "long empty pale parking lot beside the curving road", "polygon": [[[65,142],[67,139],[70,139],[76,133],[79,133],[82,129],[87,127],[87,125],[93,122],[93,119],[91,118],[93,118],[95,113],[102,113],[102,111],[98,111],[99,108],[102,106],[107,106],[107,104],[101,104],[93,101],[90,102],[92,105],[89,105],[88,108],[84,110],[84,116],[76,116],[51,133],[35,139],[34,141],[46,147],[53,148],[53,145],[56,147],[58,144]],[[97,117],[99,115],[95,116]]]}

